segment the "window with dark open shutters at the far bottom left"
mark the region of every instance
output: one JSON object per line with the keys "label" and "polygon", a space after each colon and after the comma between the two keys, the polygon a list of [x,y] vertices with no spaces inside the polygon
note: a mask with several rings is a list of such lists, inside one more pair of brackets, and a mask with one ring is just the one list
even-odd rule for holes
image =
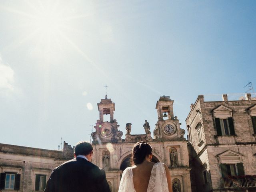
{"label": "window with dark open shutters at the far bottom left", "polygon": [[0,189],[20,189],[20,174],[4,172],[0,174]]}

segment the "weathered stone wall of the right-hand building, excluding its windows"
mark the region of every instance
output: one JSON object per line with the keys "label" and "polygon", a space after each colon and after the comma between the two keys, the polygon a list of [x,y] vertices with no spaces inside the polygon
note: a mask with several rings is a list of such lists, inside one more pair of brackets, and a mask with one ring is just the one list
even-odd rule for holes
{"label": "weathered stone wall of the right-hand building, excluding its windows", "polygon": [[[248,109],[256,104],[255,100],[204,102],[203,96],[198,96],[186,119],[190,133],[190,165],[192,181],[196,182],[197,191],[221,189],[222,177],[218,155],[227,150],[242,154],[242,163],[246,175],[256,173],[256,139],[252,120]],[[217,136],[213,110],[220,105],[232,109],[234,130],[236,136]],[[198,145],[198,135],[195,129],[200,122],[203,144]],[[208,184],[204,184],[202,172],[207,170]],[[195,186],[192,183],[192,186]],[[194,191],[196,191],[194,190]]]}

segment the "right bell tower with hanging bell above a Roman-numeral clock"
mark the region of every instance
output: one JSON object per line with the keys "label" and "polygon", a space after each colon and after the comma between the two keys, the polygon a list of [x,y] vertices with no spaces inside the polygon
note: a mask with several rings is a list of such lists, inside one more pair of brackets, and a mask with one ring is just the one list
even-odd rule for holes
{"label": "right bell tower with hanging bell above a Roman-numeral clock", "polygon": [[184,129],[180,129],[181,123],[173,113],[173,102],[170,96],[161,96],[156,102],[158,121],[154,130],[154,139],[162,141],[185,140]]}

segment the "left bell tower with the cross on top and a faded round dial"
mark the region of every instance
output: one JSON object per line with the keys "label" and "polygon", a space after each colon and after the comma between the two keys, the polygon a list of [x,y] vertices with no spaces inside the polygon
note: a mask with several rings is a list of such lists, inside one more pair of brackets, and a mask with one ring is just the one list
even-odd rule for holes
{"label": "left bell tower with the cross on top and a faded round dial", "polygon": [[[122,142],[123,132],[118,130],[119,125],[114,119],[115,103],[108,96],[101,99],[98,105],[100,119],[97,120],[95,132],[92,132],[92,143],[99,142]],[[110,115],[110,122],[104,120],[104,115]]]}

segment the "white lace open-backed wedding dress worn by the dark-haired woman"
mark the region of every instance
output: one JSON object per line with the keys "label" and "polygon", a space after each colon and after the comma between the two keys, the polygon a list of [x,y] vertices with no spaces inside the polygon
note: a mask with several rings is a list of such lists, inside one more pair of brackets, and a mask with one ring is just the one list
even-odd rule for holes
{"label": "white lace open-backed wedding dress worn by the dark-haired woman", "polygon": [[[118,192],[136,192],[133,184],[132,167],[128,167],[124,170]],[[154,164],[151,170],[147,192],[168,192],[166,172],[163,163]]]}

